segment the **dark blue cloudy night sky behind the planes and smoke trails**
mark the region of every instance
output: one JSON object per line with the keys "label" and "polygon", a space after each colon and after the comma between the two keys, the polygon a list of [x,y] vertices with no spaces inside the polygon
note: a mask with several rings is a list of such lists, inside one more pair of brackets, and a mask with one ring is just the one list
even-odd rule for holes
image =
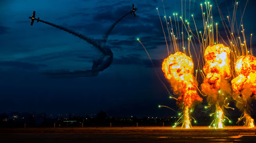
{"label": "dark blue cloudy night sky behind the planes and smoke trails", "polygon": [[[196,17],[199,29],[202,22],[200,3],[203,2],[192,0],[190,6],[190,14]],[[33,11],[42,20],[101,40],[108,28],[132,9],[133,3],[138,9],[137,17],[128,15],[120,21],[106,43],[114,53],[109,68],[95,77],[55,78],[43,74],[56,70],[89,70],[100,53],[86,41],[50,25],[35,21],[30,26],[28,17]],[[218,0],[224,17],[232,13],[233,3]],[[239,14],[245,3],[240,3]],[[181,13],[180,0],[164,1],[164,4],[166,16]],[[217,5],[212,5],[214,18],[218,21]],[[252,17],[255,6],[254,1],[249,1],[243,17],[247,35],[256,34],[253,25],[256,20]],[[140,38],[160,78],[170,87],[160,66],[167,53],[157,7],[163,18],[161,0],[0,1],[0,112],[85,116],[103,110],[114,117],[176,115],[172,110],[158,108],[158,105],[167,105],[178,110],[176,101],[168,98],[147,54],[136,40]],[[256,43],[256,38],[252,43]],[[196,114],[200,115],[205,105],[205,102],[198,105]]]}

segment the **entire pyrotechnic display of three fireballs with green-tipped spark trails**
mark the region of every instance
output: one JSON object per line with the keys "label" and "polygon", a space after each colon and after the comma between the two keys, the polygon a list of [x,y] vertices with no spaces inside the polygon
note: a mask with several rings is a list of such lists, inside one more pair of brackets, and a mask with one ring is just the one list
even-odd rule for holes
{"label": "entire pyrotechnic display of three fireballs with green-tipped spark trails", "polygon": [[[164,9],[163,1],[162,4]],[[254,127],[254,121],[250,117],[250,103],[252,99],[255,99],[255,57],[252,55],[251,43],[250,50],[247,48],[244,26],[241,25],[244,41],[234,28],[238,2],[234,3],[232,19],[227,16],[229,25],[219,9],[221,23],[225,27],[228,40],[224,40],[224,35],[220,34],[223,32],[218,30],[218,23],[214,22],[212,5],[208,1],[204,3],[205,6],[200,5],[203,31],[198,30],[199,27],[196,25],[198,19],[195,20],[195,15],[191,15],[194,28],[188,20],[183,19],[186,15],[186,8],[184,12],[181,9],[181,16],[178,16],[177,13],[174,13],[173,17],[169,16],[169,19],[164,16],[165,22],[162,22],[157,8],[168,54],[168,57],[162,62],[162,71],[169,81],[173,93],[179,96],[176,98],[170,95],[170,98],[176,99],[177,105],[182,109],[182,112],[179,113],[182,115],[173,127],[182,123],[182,128],[191,128],[190,121],[194,118],[191,118],[190,111],[194,109],[190,110],[190,108],[194,108],[198,101],[203,100],[200,96],[206,97],[208,106],[204,108],[213,118],[209,128],[223,128],[225,124],[232,123],[227,116],[229,116],[230,110],[234,110],[229,106],[233,101],[243,112],[239,121],[244,120],[246,127]],[[165,10],[164,14],[166,15]],[[166,23],[167,34],[164,30],[164,23]],[[187,42],[184,40],[186,37]],[[142,44],[141,41],[139,42]],[[145,49],[143,44],[142,46]],[[248,53],[251,55],[240,56]],[[196,70],[194,70],[193,61],[196,61]],[[237,75],[236,78],[234,78],[235,75]],[[232,80],[232,78],[234,79]],[[200,86],[198,86],[198,82],[201,84]],[[168,106],[159,107],[170,108]],[[214,112],[212,113],[210,110]],[[196,123],[195,119],[194,121]]]}

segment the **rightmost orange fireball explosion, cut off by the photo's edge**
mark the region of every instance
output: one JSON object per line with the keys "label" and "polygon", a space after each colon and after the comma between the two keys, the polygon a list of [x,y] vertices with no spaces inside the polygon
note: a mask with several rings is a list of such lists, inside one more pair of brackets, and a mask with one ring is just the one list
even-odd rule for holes
{"label": "rightmost orange fireball explosion, cut off by the photo's edge", "polygon": [[237,60],[235,71],[238,76],[234,78],[232,89],[233,98],[237,101],[237,107],[243,112],[244,126],[253,128],[254,120],[250,117],[250,103],[256,95],[256,58],[252,55],[242,55]]}

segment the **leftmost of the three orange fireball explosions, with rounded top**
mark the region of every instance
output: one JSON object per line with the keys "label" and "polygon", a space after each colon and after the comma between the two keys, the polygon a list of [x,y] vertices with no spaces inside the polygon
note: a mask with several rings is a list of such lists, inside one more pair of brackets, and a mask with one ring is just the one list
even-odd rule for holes
{"label": "leftmost of the three orange fireball explosions, with rounded top", "polygon": [[197,94],[197,82],[193,75],[193,61],[185,53],[178,51],[164,59],[162,70],[165,78],[169,80],[174,93],[179,95],[177,105],[184,112],[180,118],[182,119],[182,127],[190,128],[189,109],[193,106],[194,102],[202,101],[202,98]]}

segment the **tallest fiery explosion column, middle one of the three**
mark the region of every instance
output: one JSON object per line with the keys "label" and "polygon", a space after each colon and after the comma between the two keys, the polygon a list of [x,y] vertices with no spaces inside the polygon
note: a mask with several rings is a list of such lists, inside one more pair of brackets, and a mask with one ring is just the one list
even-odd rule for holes
{"label": "tallest fiery explosion column, middle one of the three", "polygon": [[222,122],[225,117],[223,111],[224,107],[228,108],[227,96],[231,94],[231,88],[227,81],[231,77],[230,50],[222,44],[208,46],[204,52],[204,60],[203,71],[206,76],[201,88],[203,93],[208,96],[209,106],[214,105],[216,109],[215,120],[211,125],[214,128],[223,128]]}

